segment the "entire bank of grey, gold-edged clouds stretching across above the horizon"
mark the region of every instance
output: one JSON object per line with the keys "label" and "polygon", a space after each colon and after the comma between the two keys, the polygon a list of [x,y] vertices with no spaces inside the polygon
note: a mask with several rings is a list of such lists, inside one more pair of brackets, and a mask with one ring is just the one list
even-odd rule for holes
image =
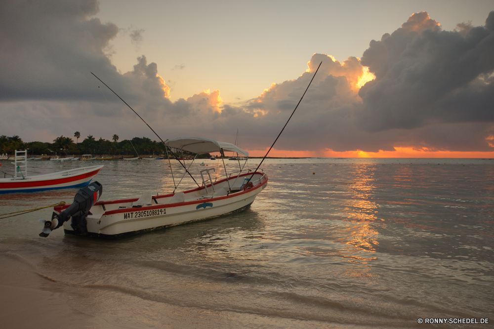
{"label": "entire bank of grey, gold-edged clouds stretching across above the horizon", "polygon": [[[219,90],[171,102],[172,84],[145,55],[132,71],[119,73],[109,55],[119,28],[94,18],[98,10],[96,0],[2,3],[2,134],[23,132],[26,141],[51,141],[76,130],[155,138],[93,72],[164,139],[195,135],[233,142],[238,128],[245,148],[264,149],[322,61],[277,149],[493,151],[494,12],[485,26],[460,23],[454,31],[443,31],[425,12],[413,14],[371,41],[361,59],[340,62],[316,53],[299,77],[273,83],[246,102],[224,104]],[[138,41],[142,31],[134,31]]]}

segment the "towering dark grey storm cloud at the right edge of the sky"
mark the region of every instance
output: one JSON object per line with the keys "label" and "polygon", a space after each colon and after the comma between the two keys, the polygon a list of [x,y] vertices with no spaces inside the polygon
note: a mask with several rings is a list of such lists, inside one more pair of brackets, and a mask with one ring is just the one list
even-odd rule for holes
{"label": "towering dark grey storm cloud at the right edge of the sky", "polygon": [[369,131],[446,122],[493,122],[494,12],[485,27],[442,31],[427,13],[371,41],[362,65],[375,75],[359,92],[357,123]]}

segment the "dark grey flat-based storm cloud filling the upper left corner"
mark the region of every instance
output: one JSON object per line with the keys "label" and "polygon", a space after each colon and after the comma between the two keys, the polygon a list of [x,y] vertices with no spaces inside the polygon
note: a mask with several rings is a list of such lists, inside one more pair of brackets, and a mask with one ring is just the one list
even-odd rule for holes
{"label": "dark grey flat-based storm cloud filling the upper left corner", "polygon": [[[119,28],[91,18],[98,11],[97,0],[2,1],[0,100],[92,100],[102,86],[93,72],[122,91],[122,97],[161,97],[167,105],[165,83],[157,81],[155,63],[144,68],[142,56],[127,75],[111,64],[109,42]],[[140,32],[134,32],[139,39]]]}

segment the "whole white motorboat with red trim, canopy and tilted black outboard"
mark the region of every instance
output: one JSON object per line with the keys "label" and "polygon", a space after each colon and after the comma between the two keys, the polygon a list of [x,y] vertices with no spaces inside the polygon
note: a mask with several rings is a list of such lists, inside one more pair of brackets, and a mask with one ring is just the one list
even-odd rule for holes
{"label": "whole white motorboat with red trim, canopy and tilted black outboard", "polygon": [[[248,157],[247,151],[233,144],[205,138],[176,138],[165,144],[195,153],[196,157],[210,152],[221,152],[224,156],[226,151]],[[217,178],[213,178],[216,173],[211,175],[215,168],[200,170],[202,185],[175,192],[180,180],[172,193],[160,196],[144,192],[139,197],[97,202],[102,186],[93,182],[79,191],[72,205],[54,208],[56,212],[51,221],[45,222],[41,236],[47,236],[52,229],[63,225],[66,234],[118,239],[244,210],[268,183],[264,171],[244,170],[246,164],[247,161],[238,171],[230,173],[224,167],[225,174]],[[187,165],[190,168],[192,163]],[[187,169],[183,174],[186,173],[189,173]],[[71,217],[72,221],[69,221]]]}

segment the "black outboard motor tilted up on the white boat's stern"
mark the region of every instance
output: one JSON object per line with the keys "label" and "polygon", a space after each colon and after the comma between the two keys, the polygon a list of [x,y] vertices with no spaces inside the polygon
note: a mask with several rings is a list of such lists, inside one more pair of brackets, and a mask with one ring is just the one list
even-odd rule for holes
{"label": "black outboard motor tilted up on the white boat's stern", "polygon": [[51,220],[40,219],[44,223],[40,237],[46,238],[52,230],[55,230],[63,225],[72,217],[70,226],[80,235],[87,234],[86,216],[92,206],[99,200],[103,193],[103,185],[94,181],[77,192],[74,197],[74,202],[61,213],[53,212]]}

